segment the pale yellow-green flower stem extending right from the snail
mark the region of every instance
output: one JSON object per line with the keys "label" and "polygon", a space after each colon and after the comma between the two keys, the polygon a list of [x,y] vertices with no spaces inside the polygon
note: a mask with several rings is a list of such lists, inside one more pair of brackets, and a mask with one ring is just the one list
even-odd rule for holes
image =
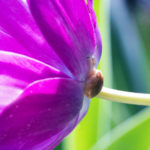
{"label": "pale yellow-green flower stem extending right from the snail", "polygon": [[106,87],[102,88],[97,97],[120,103],[150,105],[150,94],[125,92]]}

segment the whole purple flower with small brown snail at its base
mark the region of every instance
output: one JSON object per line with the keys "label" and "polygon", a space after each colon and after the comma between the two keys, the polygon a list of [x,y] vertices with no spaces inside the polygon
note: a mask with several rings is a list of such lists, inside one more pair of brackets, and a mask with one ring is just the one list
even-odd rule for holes
{"label": "whole purple flower with small brown snail at its base", "polygon": [[60,143],[101,88],[100,55],[92,1],[0,0],[0,149]]}

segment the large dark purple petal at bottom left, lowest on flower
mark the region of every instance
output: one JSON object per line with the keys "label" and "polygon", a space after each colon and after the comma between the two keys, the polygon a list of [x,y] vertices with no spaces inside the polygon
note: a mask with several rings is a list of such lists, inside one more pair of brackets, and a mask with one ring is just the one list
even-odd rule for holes
{"label": "large dark purple petal at bottom left, lowest on flower", "polygon": [[52,149],[76,125],[82,99],[83,85],[71,79],[33,83],[1,112],[0,149]]}

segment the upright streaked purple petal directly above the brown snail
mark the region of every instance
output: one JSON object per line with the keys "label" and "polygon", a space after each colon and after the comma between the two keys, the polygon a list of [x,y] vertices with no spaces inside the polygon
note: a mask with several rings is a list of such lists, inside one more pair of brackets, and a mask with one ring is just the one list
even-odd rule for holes
{"label": "upright streaked purple petal directly above the brown snail", "polygon": [[[94,29],[83,0],[28,0],[48,43],[80,80],[89,72],[95,49]],[[59,44],[58,44],[59,43]]]}

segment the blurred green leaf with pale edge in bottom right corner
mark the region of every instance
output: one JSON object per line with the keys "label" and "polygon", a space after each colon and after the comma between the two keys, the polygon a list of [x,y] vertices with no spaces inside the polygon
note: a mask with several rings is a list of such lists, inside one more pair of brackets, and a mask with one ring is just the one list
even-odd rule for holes
{"label": "blurred green leaf with pale edge in bottom right corner", "polygon": [[131,117],[106,134],[92,150],[149,150],[150,109]]}

